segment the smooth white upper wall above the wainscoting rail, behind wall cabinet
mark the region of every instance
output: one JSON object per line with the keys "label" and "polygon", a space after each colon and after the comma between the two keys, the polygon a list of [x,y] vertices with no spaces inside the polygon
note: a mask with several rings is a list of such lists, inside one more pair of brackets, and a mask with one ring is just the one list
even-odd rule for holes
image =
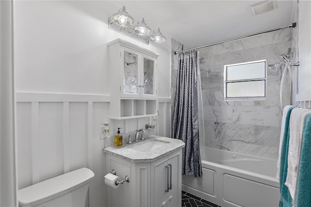
{"label": "smooth white upper wall above the wainscoting rail, behind wall cabinet", "polygon": [[122,38],[160,54],[158,93],[169,97],[170,42],[147,46],[109,30],[108,16],[119,7],[111,1],[16,1],[16,91],[107,94],[106,43]]}

